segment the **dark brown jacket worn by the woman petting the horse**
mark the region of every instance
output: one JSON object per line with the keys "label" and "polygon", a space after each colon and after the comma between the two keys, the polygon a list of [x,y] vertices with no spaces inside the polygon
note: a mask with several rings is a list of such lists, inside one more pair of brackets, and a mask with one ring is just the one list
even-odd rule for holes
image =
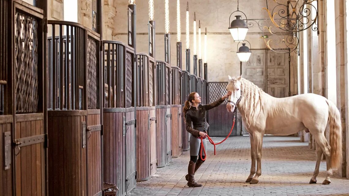
{"label": "dark brown jacket worn by the woman petting the horse", "polygon": [[[224,102],[222,98],[219,98],[215,102],[211,104],[206,105],[199,105],[198,109],[196,107],[192,106],[189,108],[187,113],[185,114],[185,128],[189,133],[191,133],[193,136],[198,137],[199,132],[203,131],[206,133],[204,127],[206,122],[206,111],[211,110],[214,107],[217,107],[221,105]],[[193,123],[193,127],[192,127]]]}

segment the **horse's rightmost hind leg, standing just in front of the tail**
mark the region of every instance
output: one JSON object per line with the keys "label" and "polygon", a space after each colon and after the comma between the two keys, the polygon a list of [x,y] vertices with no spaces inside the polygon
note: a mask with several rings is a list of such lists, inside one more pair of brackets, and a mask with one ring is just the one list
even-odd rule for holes
{"label": "horse's rightmost hind leg, standing just in front of the tail", "polygon": [[313,134],[315,136],[315,140],[317,143],[317,149],[320,147],[322,149],[322,152],[325,154],[326,157],[326,166],[327,166],[327,172],[326,172],[326,179],[322,184],[329,184],[331,183],[331,180],[329,179],[329,176],[332,175],[332,169],[330,165],[330,160],[331,160],[331,153],[330,153],[330,146],[326,140],[326,137],[323,133],[317,133]]}

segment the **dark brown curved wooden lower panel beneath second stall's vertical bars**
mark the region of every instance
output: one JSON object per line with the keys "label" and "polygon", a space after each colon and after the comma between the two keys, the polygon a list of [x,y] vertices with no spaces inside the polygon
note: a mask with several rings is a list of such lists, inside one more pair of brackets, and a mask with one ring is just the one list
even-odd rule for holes
{"label": "dark brown curved wooden lower panel beneath second stall's vertical bars", "polygon": [[49,195],[87,195],[86,148],[82,148],[82,122],[86,116],[48,117],[50,148]]}

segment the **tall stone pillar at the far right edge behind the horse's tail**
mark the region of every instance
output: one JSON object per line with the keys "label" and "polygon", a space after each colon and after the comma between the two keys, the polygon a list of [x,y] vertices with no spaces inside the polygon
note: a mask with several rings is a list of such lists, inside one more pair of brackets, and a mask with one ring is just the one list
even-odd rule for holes
{"label": "tall stone pillar at the far right edge behind the horse's tail", "polygon": [[[336,27],[336,86],[337,86],[337,108],[341,113],[341,123],[342,123],[342,134],[343,134],[343,146],[342,146],[342,154],[343,160],[341,167],[338,168],[338,173],[341,177],[347,176],[347,160],[346,160],[346,114],[348,113],[348,109],[346,109],[346,101],[347,98],[345,96],[345,91],[348,87],[348,78],[345,78],[344,72],[344,56],[347,56],[346,51],[344,50],[344,8],[345,5],[344,0],[336,0],[335,2],[335,27]],[[348,76],[347,76],[348,77]]]}

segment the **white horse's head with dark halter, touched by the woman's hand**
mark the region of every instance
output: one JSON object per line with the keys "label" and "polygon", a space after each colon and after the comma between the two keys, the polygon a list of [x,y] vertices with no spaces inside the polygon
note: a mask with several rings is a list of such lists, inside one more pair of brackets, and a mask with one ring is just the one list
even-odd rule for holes
{"label": "white horse's head with dark halter, touched by the woman's hand", "polygon": [[228,79],[228,85],[225,89],[231,91],[232,94],[228,97],[227,110],[233,112],[241,99],[241,76],[235,78],[228,76]]}

